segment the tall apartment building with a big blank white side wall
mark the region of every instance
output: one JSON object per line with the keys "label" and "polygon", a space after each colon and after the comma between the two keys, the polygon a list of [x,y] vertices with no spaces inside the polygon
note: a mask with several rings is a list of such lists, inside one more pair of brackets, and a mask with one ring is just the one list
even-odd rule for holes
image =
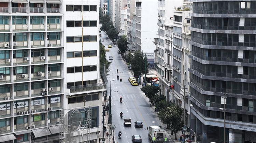
{"label": "tall apartment building with a big blank white side wall", "polygon": [[[157,34],[157,1],[136,0],[136,49],[153,54],[153,43]],[[154,57],[148,58],[150,67],[154,67]]]}

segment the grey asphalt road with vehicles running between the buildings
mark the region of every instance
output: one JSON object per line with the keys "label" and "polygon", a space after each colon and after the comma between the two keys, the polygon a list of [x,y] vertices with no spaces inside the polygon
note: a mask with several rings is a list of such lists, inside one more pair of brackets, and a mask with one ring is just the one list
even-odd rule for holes
{"label": "grey asphalt road with vehicles running between the buildings", "polygon": [[[106,58],[109,60],[109,56],[113,57],[110,72],[108,76],[108,95],[110,95],[110,80],[112,81],[111,87],[111,96],[112,96],[112,125],[116,126],[115,129],[115,139],[118,143],[132,143],[131,136],[140,135],[142,138],[142,143],[150,143],[148,139],[148,130],[146,129],[151,125],[162,125],[159,122],[158,117],[156,116],[154,110],[149,106],[148,101],[142,94],[139,86],[132,86],[128,81],[128,78],[131,77],[131,74],[126,66],[126,63],[122,60],[120,54],[117,53],[118,48],[116,45],[113,45],[108,36],[102,31],[101,32],[102,42],[105,47],[108,47],[109,44],[112,45],[112,48],[109,48],[110,51],[106,52]],[[118,69],[118,75],[122,78],[122,82],[117,80],[116,70]],[[120,103],[120,96],[123,97],[123,103]],[[123,118],[120,118],[120,112],[123,112]],[[132,126],[124,127],[124,118],[131,118]],[[143,128],[135,128],[134,122],[142,121]],[[122,132],[122,139],[118,139],[117,133]]]}

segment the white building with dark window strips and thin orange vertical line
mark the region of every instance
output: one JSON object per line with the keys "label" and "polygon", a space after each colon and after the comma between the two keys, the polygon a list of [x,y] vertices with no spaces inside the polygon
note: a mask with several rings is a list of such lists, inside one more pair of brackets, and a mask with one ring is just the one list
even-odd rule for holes
{"label": "white building with dark window strips and thin orange vertical line", "polygon": [[[100,78],[99,67],[99,1],[65,2],[65,108],[90,106],[91,118],[83,115],[82,126],[90,120],[90,142],[99,142],[101,126],[101,97],[106,84]],[[87,133],[87,132],[86,132]]]}

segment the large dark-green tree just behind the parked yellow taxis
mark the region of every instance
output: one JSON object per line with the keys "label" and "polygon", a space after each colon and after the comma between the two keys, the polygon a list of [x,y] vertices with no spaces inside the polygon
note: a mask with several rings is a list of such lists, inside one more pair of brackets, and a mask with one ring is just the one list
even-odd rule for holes
{"label": "large dark-green tree just behind the parked yellow taxis", "polygon": [[[146,63],[146,69],[145,69],[145,63]],[[142,73],[145,74],[148,72],[148,63],[147,58],[144,56],[142,51],[136,51],[134,53],[134,57],[131,59],[131,68],[134,73],[134,77],[139,78],[139,76],[142,76]],[[146,70],[146,72],[145,72]]]}

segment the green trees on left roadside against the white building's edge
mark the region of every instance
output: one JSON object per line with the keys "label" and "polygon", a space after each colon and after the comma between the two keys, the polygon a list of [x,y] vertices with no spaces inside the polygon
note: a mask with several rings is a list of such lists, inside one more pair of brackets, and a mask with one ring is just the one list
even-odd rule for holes
{"label": "green trees on left roadside against the white building's edge", "polygon": [[102,45],[102,43],[100,41],[100,72],[104,71],[104,65],[105,65],[106,75],[108,75],[110,64],[111,64],[111,62],[106,60],[105,46]]}

